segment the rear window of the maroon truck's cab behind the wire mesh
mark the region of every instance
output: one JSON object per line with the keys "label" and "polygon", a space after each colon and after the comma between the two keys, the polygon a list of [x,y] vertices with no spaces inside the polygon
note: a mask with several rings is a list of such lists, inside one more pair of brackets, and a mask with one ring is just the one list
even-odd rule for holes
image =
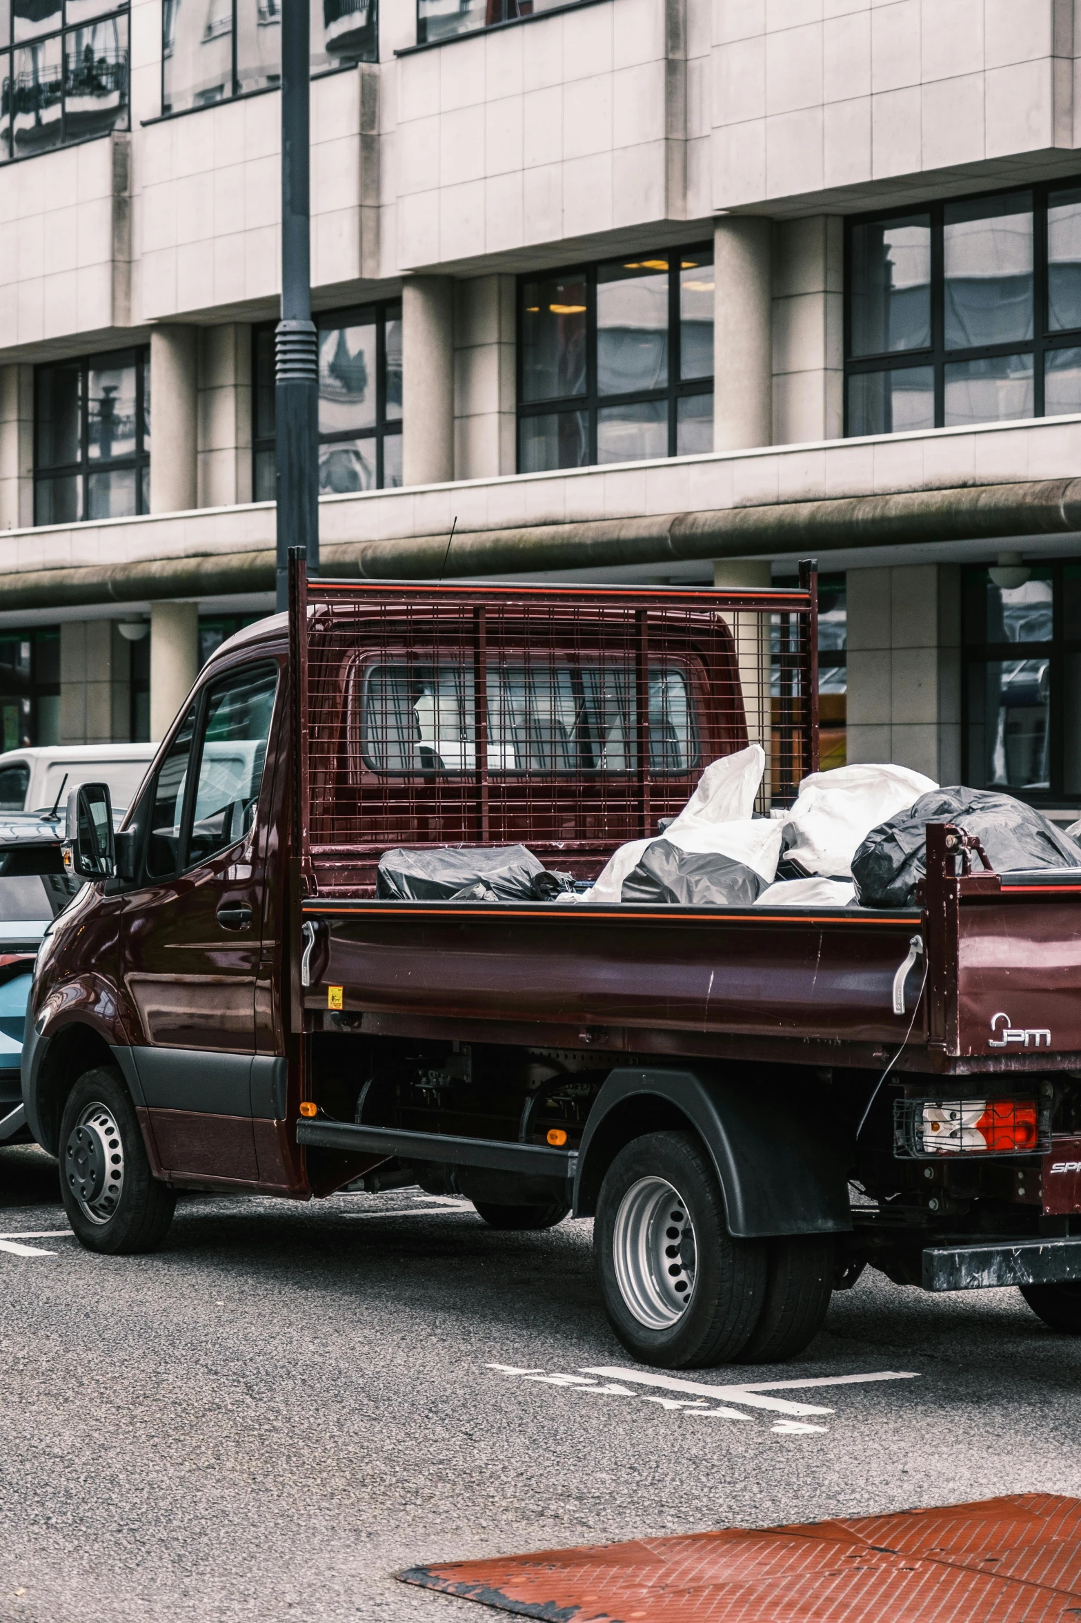
{"label": "rear window of the maroon truck's cab behind the wire mesh", "polygon": [[[650,771],[699,766],[687,675],[648,669]],[[491,664],[486,675],[489,773],[637,769],[634,667],[600,661]],[[473,670],[464,664],[373,664],[361,675],[360,758],[376,773],[476,769]]]}

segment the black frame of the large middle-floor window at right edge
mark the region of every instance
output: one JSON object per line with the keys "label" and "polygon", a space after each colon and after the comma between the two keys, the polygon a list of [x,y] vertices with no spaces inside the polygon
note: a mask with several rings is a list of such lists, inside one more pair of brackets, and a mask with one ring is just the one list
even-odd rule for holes
{"label": "black frame of the large middle-floor window at right edge", "polygon": [[[1003,355],[1032,357],[1032,419],[1045,415],[1045,357],[1055,349],[1081,347],[1081,325],[1075,328],[1050,328],[1049,325],[1049,274],[1047,274],[1047,198],[1053,192],[1070,192],[1081,187],[1081,175],[1063,175],[1057,180],[1026,182],[1016,185],[1010,180],[981,192],[966,192],[959,196],[935,198],[927,203],[911,206],[869,209],[862,214],[848,214],[844,219],[844,420],[843,435],[852,435],[849,422],[849,381],[867,373],[903,372],[911,367],[934,368],[935,428],[945,424],[945,368],[964,360],[995,360]],[[1032,196],[1032,338],[1010,339],[1003,344],[977,344],[968,349],[946,349],[945,346],[945,250],[943,221],[945,211],[955,203],[979,203],[984,198],[1016,196],[1028,192]],[[874,226],[878,221],[890,221],[903,226],[919,216],[930,217],[930,344],[922,349],[878,351],[874,355],[852,355],[852,234],[859,226]],[[987,419],[989,422],[1011,422],[1015,419]],[[882,430],[896,433],[927,433],[930,430]],[[861,435],[862,437],[862,435]]]}

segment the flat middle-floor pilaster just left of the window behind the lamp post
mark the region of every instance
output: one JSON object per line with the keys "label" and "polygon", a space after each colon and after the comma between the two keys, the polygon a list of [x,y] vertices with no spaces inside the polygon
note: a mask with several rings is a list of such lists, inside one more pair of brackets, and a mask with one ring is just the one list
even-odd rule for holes
{"label": "flat middle-floor pilaster just left of the window behind the lamp post", "polygon": [[199,331],[198,505],[251,502],[251,328]]}

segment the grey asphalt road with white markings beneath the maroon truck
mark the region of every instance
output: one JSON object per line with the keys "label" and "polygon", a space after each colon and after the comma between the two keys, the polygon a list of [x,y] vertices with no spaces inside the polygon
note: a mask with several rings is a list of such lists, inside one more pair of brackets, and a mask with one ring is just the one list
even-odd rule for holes
{"label": "grey asphalt road with white markings beneath the maroon truck", "polygon": [[[52,1162],[0,1149],[0,1618],[480,1623],[499,1613],[392,1574],[1081,1493],[1081,1341],[1013,1290],[935,1300],[865,1274],[802,1358],[700,1376],[912,1376],[765,1394],[830,1410],[793,1417],[635,1380],[588,1224],[496,1233],[397,1191],[185,1198],[146,1258],[29,1238],[65,1227]],[[582,1376],[609,1367],[629,1373]]]}

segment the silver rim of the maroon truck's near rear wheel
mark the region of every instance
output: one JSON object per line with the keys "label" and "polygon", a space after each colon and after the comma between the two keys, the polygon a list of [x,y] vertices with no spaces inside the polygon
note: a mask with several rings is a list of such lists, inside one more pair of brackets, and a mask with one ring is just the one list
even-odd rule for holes
{"label": "silver rim of the maroon truck's near rear wheel", "polygon": [[668,1329],[694,1297],[695,1235],[687,1203],[664,1178],[639,1178],[616,1212],[619,1294],[647,1329]]}

